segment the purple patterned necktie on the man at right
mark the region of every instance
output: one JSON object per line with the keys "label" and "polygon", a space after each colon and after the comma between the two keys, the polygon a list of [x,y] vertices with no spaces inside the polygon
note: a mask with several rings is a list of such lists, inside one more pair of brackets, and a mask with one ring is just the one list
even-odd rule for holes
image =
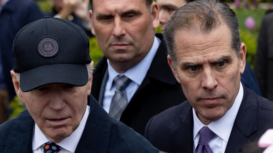
{"label": "purple patterned necktie on the man at right", "polygon": [[204,126],[199,131],[199,141],[198,145],[194,151],[194,153],[213,153],[208,142],[212,137],[214,137],[215,133],[212,132],[207,126]]}

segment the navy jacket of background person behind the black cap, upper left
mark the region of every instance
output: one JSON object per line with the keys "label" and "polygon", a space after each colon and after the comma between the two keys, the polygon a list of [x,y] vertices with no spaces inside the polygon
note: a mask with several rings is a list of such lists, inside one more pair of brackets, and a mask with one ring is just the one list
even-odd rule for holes
{"label": "navy jacket of background person behind the black cap, upper left", "polygon": [[23,26],[41,18],[43,14],[33,0],[9,0],[0,13],[0,62],[3,65],[10,100],[16,95],[10,73],[13,69],[13,39]]}

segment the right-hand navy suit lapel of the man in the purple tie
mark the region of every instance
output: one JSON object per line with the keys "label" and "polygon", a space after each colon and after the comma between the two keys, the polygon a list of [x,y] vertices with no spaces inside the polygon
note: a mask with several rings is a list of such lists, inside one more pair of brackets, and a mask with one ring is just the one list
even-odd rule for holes
{"label": "right-hand navy suit lapel of the man in the purple tie", "polygon": [[[243,84],[243,83],[242,83]],[[245,143],[251,142],[248,137],[257,131],[257,102],[253,95],[246,94],[243,84],[244,95],[239,111],[235,118],[225,152],[241,152]]]}

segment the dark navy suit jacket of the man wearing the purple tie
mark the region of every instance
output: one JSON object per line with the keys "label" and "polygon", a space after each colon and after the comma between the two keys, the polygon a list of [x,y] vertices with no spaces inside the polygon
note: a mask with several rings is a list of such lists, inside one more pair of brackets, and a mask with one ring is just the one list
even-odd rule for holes
{"label": "dark navy suit jacket of the man wearing the purple tie", "polygon": [[[273,128],[273,103],[243,85],[244,95],[225,153],[241,152],[245,143],[258,140]],[[189,101],[151,118],[144,137],[166,152],[193,152],[193,111]]]}

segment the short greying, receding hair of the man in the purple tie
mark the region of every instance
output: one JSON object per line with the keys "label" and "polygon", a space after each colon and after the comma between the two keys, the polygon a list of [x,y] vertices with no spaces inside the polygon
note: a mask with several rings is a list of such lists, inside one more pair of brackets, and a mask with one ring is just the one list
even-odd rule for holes
{"label": "short greying, receding hair of the man in the purple tie", "polygon": [[174,36],[178,30],[209,34],[222,24],[227,25],[231,36],[231,48],[239,58],[241,46],[239,23],[235,12],[226,3],[219,0],[197,0],[177,9],[163,32],[173,69],[177,66]]}

